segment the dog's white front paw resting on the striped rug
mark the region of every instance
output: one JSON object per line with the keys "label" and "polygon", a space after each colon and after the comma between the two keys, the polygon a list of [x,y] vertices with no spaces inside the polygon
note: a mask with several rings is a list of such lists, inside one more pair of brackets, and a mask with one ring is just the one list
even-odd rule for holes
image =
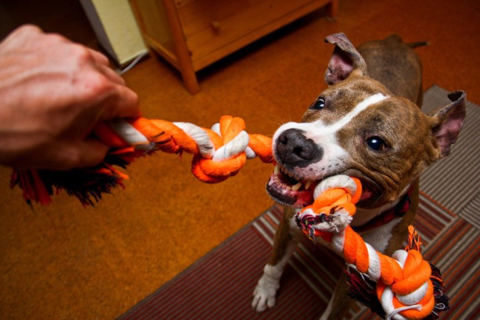
{"label": "dog's white front paw resting on the striped rug", "polygon": [[256,312],[263,312],[275,306],[276,291],[280,287],[281,271],[267,264],[263,269],[262,278],[253,291],[252,308]]}

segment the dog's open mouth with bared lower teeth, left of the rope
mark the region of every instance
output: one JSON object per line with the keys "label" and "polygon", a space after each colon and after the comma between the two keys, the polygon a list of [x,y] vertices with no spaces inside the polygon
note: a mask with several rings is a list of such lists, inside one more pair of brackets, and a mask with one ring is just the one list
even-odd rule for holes
{"label": "dog's open mouth with bared lower teeth, left of the rope", "polygon": [[319,181],[298,180],[280,164],[276,164],[275,171],[270,176],[267,191],[275,201],[285,206],[302,208],[313,203],[313,190]]}

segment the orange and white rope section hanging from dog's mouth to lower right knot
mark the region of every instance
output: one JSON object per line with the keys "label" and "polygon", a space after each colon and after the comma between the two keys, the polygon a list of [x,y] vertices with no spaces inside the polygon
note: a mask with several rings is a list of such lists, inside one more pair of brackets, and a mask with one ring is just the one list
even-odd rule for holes
{"label": "orange and white rope section hanging from dog's mouth to lower right knot", "polygon": [[328,247],[343,254],[349,269],[376,282],[376,297],[383,310],[370,307],[385,319],[436,319],[438,312],[448,309],[448,298],[442,293],[440,271],[422,259],[420,237],[410,226],[407,249],[395,251],[392,258],[376,251],[350,227],[360,195],[356,178],[326,178],[315,188],[314,203],[297,214],[300,230],[311,238],[322,237]]}

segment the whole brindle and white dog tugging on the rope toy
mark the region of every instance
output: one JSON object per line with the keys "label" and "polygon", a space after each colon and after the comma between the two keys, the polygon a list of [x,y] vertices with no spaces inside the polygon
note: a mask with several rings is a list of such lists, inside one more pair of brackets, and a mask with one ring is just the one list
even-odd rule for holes
{"label": "whole brindle and white dog tugging on the rope toy", "polygon": [[[358,50],[344,34],[328,36],[326,42],[335,45],[325,73],[328,88],[301,123],[285,123],[274,134],[278,164],[267,191],[285,211],[254,290],[257,312],[275,304],[280,276],[300,237],[293,216],[313,202],[320,180],[337,174],[361,180],[363,193],[351,225],[390,256],[407,238],[418,209],[420,173],[450,153],[464,123],[462,91],[449,94],[452,103],[436,112],[420,110],[420,59],[399,36],[366,42]],[[406,201],[411,204],[407,210],[396,210]],[[351,304],[347,292],[343,276],[322,319],[344,317]]]}

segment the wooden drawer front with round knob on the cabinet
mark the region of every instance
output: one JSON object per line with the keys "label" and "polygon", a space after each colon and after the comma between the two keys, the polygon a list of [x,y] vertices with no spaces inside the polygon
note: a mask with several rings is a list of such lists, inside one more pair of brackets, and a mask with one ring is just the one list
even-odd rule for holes
{"label": "wooden drawer front with round knob on the cabinet", "polygon": [[312,0],[176,0],[191,60],[195,62]]}

